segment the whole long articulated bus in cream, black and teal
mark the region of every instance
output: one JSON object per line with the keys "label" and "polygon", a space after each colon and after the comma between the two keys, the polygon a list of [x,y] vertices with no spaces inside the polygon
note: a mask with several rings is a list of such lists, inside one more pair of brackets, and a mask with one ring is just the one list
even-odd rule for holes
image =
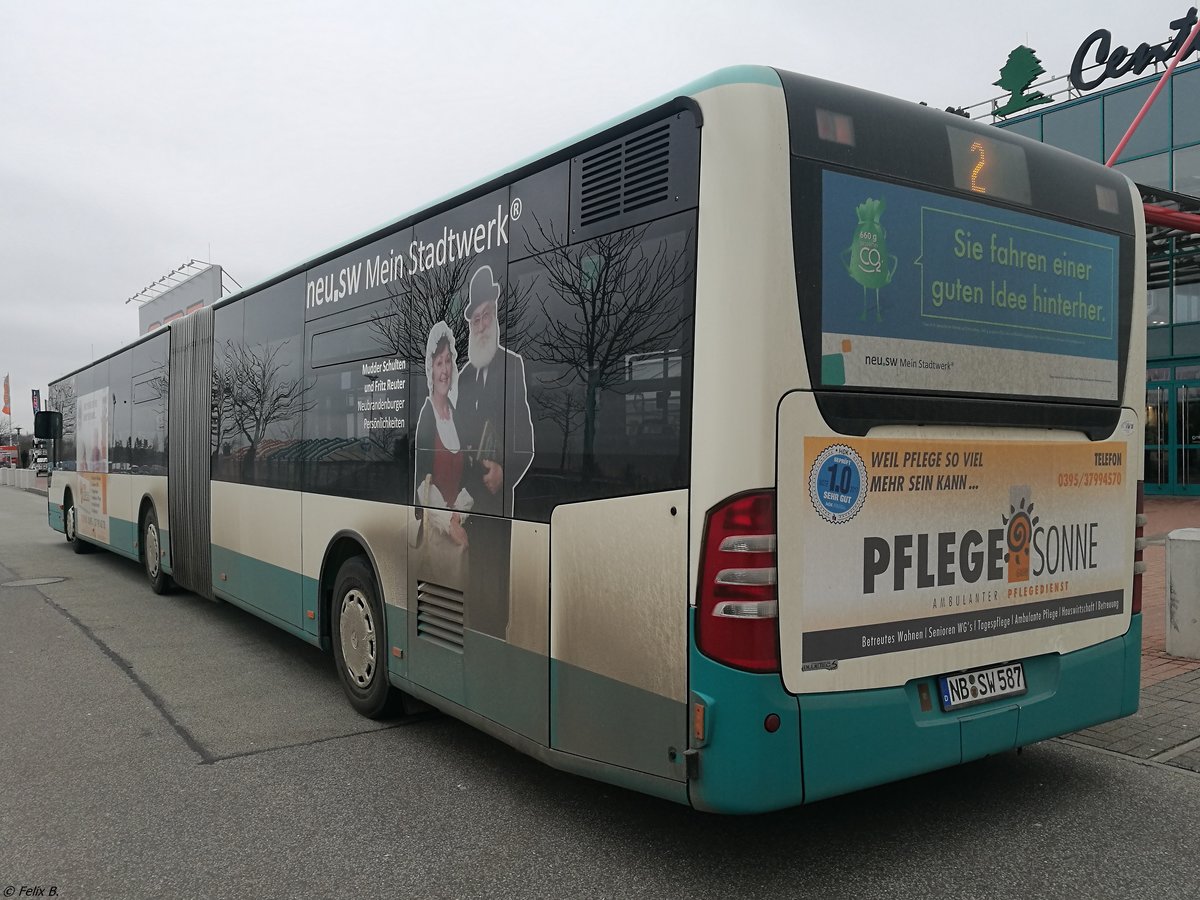
{"label": "whole long articulated bus in cream, black and teal", "polygon": [[1121,174],[719,71],[56,382],[50,526],[551,766],[755,812],[1136,709]]}

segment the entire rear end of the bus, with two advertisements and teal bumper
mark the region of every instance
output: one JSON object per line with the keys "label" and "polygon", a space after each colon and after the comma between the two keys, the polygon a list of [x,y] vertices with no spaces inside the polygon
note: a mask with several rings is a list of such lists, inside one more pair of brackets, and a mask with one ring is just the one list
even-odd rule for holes
{"label": "entire rear end of the bus, with two advertisements and teal bumper", "polygon": [[808,803],[1135,712],[1132,184],[761,80],[697,95],[692,804]]}

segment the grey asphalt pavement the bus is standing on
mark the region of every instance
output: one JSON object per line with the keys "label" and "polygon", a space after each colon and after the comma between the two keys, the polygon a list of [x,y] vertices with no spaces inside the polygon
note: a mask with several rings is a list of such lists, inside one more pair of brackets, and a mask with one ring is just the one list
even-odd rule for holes
{"label": "grey asphalt pavement the bus is standing on", "polygon": [[[768,816],[368,722],[324,654],[0,488],[0,895],[1190,898],[1200,775],[1045,742]],[[1184,673],[1182,677],[1189,677]],[[1166,684],[1166,679],[1159,684]],[[1186,752],[1183,754],[1186,755]],[[1178,758],[1178,757],[1176,757]]]}

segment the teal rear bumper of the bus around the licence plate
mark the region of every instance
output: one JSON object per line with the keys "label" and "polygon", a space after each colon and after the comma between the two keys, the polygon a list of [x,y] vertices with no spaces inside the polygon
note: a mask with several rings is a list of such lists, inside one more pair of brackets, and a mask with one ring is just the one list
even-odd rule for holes
{"label": "teal rear bumper of the bus around the licence plate", "polygon": [[[1141,616],[1121,637],[1022,660],[1028,692],[942,712],[936,678],[898,688],[788,695],[691,648],[689,799],[713,812],[812,803],[1067,734],[1138,710]],[[696,706],[703,709],[697,739]],[[924,707],[924,708],[923,708]],[[764,727],[767,716],[779,727]]]}

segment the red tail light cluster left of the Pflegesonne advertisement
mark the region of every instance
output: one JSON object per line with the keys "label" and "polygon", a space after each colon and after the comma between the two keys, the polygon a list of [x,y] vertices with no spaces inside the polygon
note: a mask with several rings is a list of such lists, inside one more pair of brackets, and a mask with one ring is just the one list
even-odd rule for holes
{"label": "red tail light cluster left of the Pflegesonne advertisement", "polygon": [[775,493],[739,494],[704,524],[696,643],[719,662],[779,671]]}

